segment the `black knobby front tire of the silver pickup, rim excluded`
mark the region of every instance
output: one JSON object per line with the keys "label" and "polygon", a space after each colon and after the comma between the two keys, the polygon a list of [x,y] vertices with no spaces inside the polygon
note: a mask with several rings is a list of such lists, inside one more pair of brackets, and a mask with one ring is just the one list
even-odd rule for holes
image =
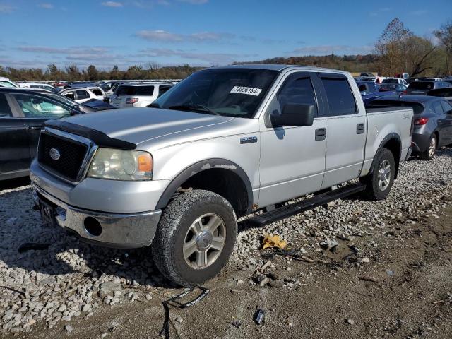
{"label": "black knobby front tire of the silver pickup, rim excluded", "polygon": [[[191,224],[206,213],[215,213],[225,225],[225,243],[218,258],[206,268],[186,263],[183,246]],[[178,285],[201,285],[217,275],[230,258],[237,237],[237,218],[229,201],[210,191],[189,191],[174,198],[163,210],[153,240],[152,254],[160,273]]]}

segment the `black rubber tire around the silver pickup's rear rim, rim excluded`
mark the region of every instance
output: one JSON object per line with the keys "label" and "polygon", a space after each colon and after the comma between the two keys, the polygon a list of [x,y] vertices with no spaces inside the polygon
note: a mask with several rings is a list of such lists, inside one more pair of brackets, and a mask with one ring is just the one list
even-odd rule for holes
{"label": "black rubber tire around the silver pickup's rear rim, rim excluded", "polygon": [[[385,161],[388,162],[388,164],[391,166],[391,172],[389,175],[389,184],[386,186],[386,189],[382,190],[379,186],[379,169]],[[391,153],[391,150],[383,148],[376,156],[374,170],[372,171],[372,173],[360,179],[362,183],[366,184],[364,195],[373,201],[383,200],[384,198],[386,198],[393,186],[395,174],[396,161],[394,160],[393,153]]]}

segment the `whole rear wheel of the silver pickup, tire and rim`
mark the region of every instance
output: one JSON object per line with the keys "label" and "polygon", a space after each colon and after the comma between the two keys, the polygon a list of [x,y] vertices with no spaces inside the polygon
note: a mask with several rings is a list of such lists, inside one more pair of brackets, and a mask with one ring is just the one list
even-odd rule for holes
{"label": "whole rear wheel of the silver pickup, tire and rim", "polygon": [[362,178],[366,184],[364,193],[371,200],[382,200],[388,196],[394,183],[396,162],[393,153],[383,148],[376,156],[375,167],[371,174]]}

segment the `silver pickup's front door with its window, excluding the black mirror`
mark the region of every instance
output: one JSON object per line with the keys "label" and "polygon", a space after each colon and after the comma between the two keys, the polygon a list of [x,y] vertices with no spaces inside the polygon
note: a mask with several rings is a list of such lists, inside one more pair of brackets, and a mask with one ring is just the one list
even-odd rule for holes
{"label": "silver pickup's front door with its window, excluding the black mirror", "polygon": [[[326,119],[318,117],[323,104],[314,90],[312,75],[292,72],[285,76],[261,119],[261,188],[259,206],[290,200],[319,191],[325,170]],[[269,126],[268,116],[283,111],[286,104],[316,107],[313,126]]]}

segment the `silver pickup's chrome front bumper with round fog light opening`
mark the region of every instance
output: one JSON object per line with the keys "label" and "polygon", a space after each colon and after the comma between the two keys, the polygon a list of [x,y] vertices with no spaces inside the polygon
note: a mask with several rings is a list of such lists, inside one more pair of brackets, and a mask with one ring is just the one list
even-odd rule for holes
{"label": "silver pickup's chrome front bumper with round fog light opening", "polygon": [[[161,210],[143,213],[103,213],[69,206],[32,182],[35,203],[44,201],[55,209],[55,222],[83,241],[114,248],[138,248],[149,246],[157,230]],[[97,220],[100,234],[89,232],[88,222]],[[88,225],[88,226],[87,226]],[[97,223],[96,223],[97,225]]]}

